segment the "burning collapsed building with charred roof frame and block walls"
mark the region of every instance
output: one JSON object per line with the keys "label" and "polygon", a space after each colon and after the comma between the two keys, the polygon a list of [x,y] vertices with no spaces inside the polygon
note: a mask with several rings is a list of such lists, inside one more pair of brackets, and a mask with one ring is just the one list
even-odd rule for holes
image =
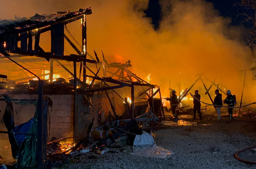
{"label": "burning collapsed building with charred roof frame and block walls", "polygon": [[[2,115],[9,113],[8,117],[4,115],[8,131],[1,126],[1,133],[9,134],[9,143],[7,137],[3,139],[5,141],[1,139],[1,149],[19,145],[11,141],[13,137],[17,139],[14,131],[22,135],[25,133],[21,132],[22,126],[29,124],[30,129],[37,126],[37,134],[32,133],[30,139],[38,139],[35,145],[41,153],[37,155],[41,160],[37,165],[40,166],[45,160],[46,141],[72,138],[72,143],[78,142],[87,137],[92,127],[112,120],[124,123],[133,119],[145,121],[143,127],[147,128],[150,121],[164,118],[160,88],[150,84],[150,75],[143,80],[128,70],[130,61],[108,63],[103,52],[102,61],[95,51],[95,58],[87,52],[86,15],[89,14],[92,14],[90,8],[1,21],[0,64],[2,74],[7,75],[6,79],[1,79],[0,94],[6,97],[2,101],[7,105],[1,112]],[[70,23],[80,20],[81,43],[67,28]],[[45,35],[51,44],[49,52],[41,47]],[[77,54],[67,51],[65,44]],[[29,109],[28,105],[34,106]],[[95,122],[91,124],[92,119]],[[13,121],[13,126],[8,128],[6,120]],[[18,127],[14,128],[14,125]],[[21,144],[23,141],[24,138]],[[62,146],[60,150],[69,150],[75,145],[70,146]],[[18,158],[21,164],[21,152],[11,150],[11,153],[13,159],[2,155],[1,160],[11,162]],[[30,165],[32,163],[27,164]]]}

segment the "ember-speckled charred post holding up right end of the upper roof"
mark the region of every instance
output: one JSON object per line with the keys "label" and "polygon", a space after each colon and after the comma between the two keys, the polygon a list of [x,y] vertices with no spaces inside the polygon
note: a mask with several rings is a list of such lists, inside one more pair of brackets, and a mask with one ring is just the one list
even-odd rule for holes
{"label": "ember-speckled charred post holding up right end of the upper roof", "polygon": [[[86,35],[86,17],[82,18],[82,56],[86,59],[87,56],[87,35]],[[83,82],[86,82],[86,61],[83,61]]]}

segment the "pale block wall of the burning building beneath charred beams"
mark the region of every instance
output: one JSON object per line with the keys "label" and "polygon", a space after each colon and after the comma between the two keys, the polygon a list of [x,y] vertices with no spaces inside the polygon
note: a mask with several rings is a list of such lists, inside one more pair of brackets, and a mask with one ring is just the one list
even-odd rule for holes
{"label": "pale block wall of the burning building beneath charred beams", "polygon": [[[46,95],[44,95],[45,97]],[[114,116],[111,109],[107,95],[104,92],[94,94],[91,97],[93,108],[85,105],[83,97],[78,95],[78,114],[76,119],[76,128],[73,129],[73,95],[47,95],[52,99],[53,106],[50,110],[50,118],[48,118],[48,131],[50,131],[49,139],[52,137],[67,138],[67,137],[83,137],[86,136],[88,126],[95,118],[94,126],[97,127],[100,123],[97,123],[98,112],[102,111],[102,121],[108,117],[108,112]],[[122,115],[125,111],[125,105],[123,100],[114,93],[109,92],[109,97],[115,108],[117,115]],[[11,99],[38,99],[38,95],[29,94],[12,94]],[[74,133],[75,132],[75,133]]]}

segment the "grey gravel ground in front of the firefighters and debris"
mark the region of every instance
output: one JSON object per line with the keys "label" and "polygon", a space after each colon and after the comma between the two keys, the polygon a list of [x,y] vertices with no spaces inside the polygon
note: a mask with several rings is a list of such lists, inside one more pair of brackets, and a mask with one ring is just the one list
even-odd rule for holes
{"label": "grey gravel ground in front of the firefighters and debris", "polygon": [[[204,120],[191,120],[192,115],[180,115],[178,123],[162,121],[152,131],[156,144],[175,154],[156,159],[130,155],[132,148],[111,148],[98,155],[87,153],[73,157],[70,169],[256,169],[234,158],[242,149],[256,146],[256,121],[249,117],[235,117],[234,122],[216,122],[217,117],[207,115]],[[248,150],[239,155],[256,162],[256,152]]]}

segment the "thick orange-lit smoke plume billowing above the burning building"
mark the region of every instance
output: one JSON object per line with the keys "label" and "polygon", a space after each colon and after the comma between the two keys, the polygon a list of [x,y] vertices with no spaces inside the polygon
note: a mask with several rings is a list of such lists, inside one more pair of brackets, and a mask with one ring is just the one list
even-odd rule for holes
{"label": "thick orange-lit smoke plume billowing above the burning building", "polygon": [[[169,80],[171,88],[178,91],[179,73],[181,89],[190,87],[198,73],[205,73],[211,80],[218,75],[216,83],[225,90],[230,89],[239,102],[244,79],[244,72],[239,70],[250,68],[252,62],[251,52],[239,41],[244,28],[229,26],[231,19],[220,16],[213,4],[204,0],[161,0],[160,3],[162,20],[157,31],[143,12],[148,0],[12,0],[1,2],[0,16],[9,19],[15,14],[32,16],[92,7],[92,15],[87,16],[89,53],[94,49],[100,54],[103,50],[109,62],[131,60],[132,71],[140,77],[152,73],[152,83],[161,87],[164,96],[169,94]],[[79,24],[67,25],[78,40]],[[48,48],[47,44],[40,45]],[[205,83],[207,87],[211,85]],[[248,71],[246,103],[255,101],[254,86]],[[210,103],[201,82],[194,89],[199,89],[202,100]],[[215,89],[211,89],[212,97]]]}

